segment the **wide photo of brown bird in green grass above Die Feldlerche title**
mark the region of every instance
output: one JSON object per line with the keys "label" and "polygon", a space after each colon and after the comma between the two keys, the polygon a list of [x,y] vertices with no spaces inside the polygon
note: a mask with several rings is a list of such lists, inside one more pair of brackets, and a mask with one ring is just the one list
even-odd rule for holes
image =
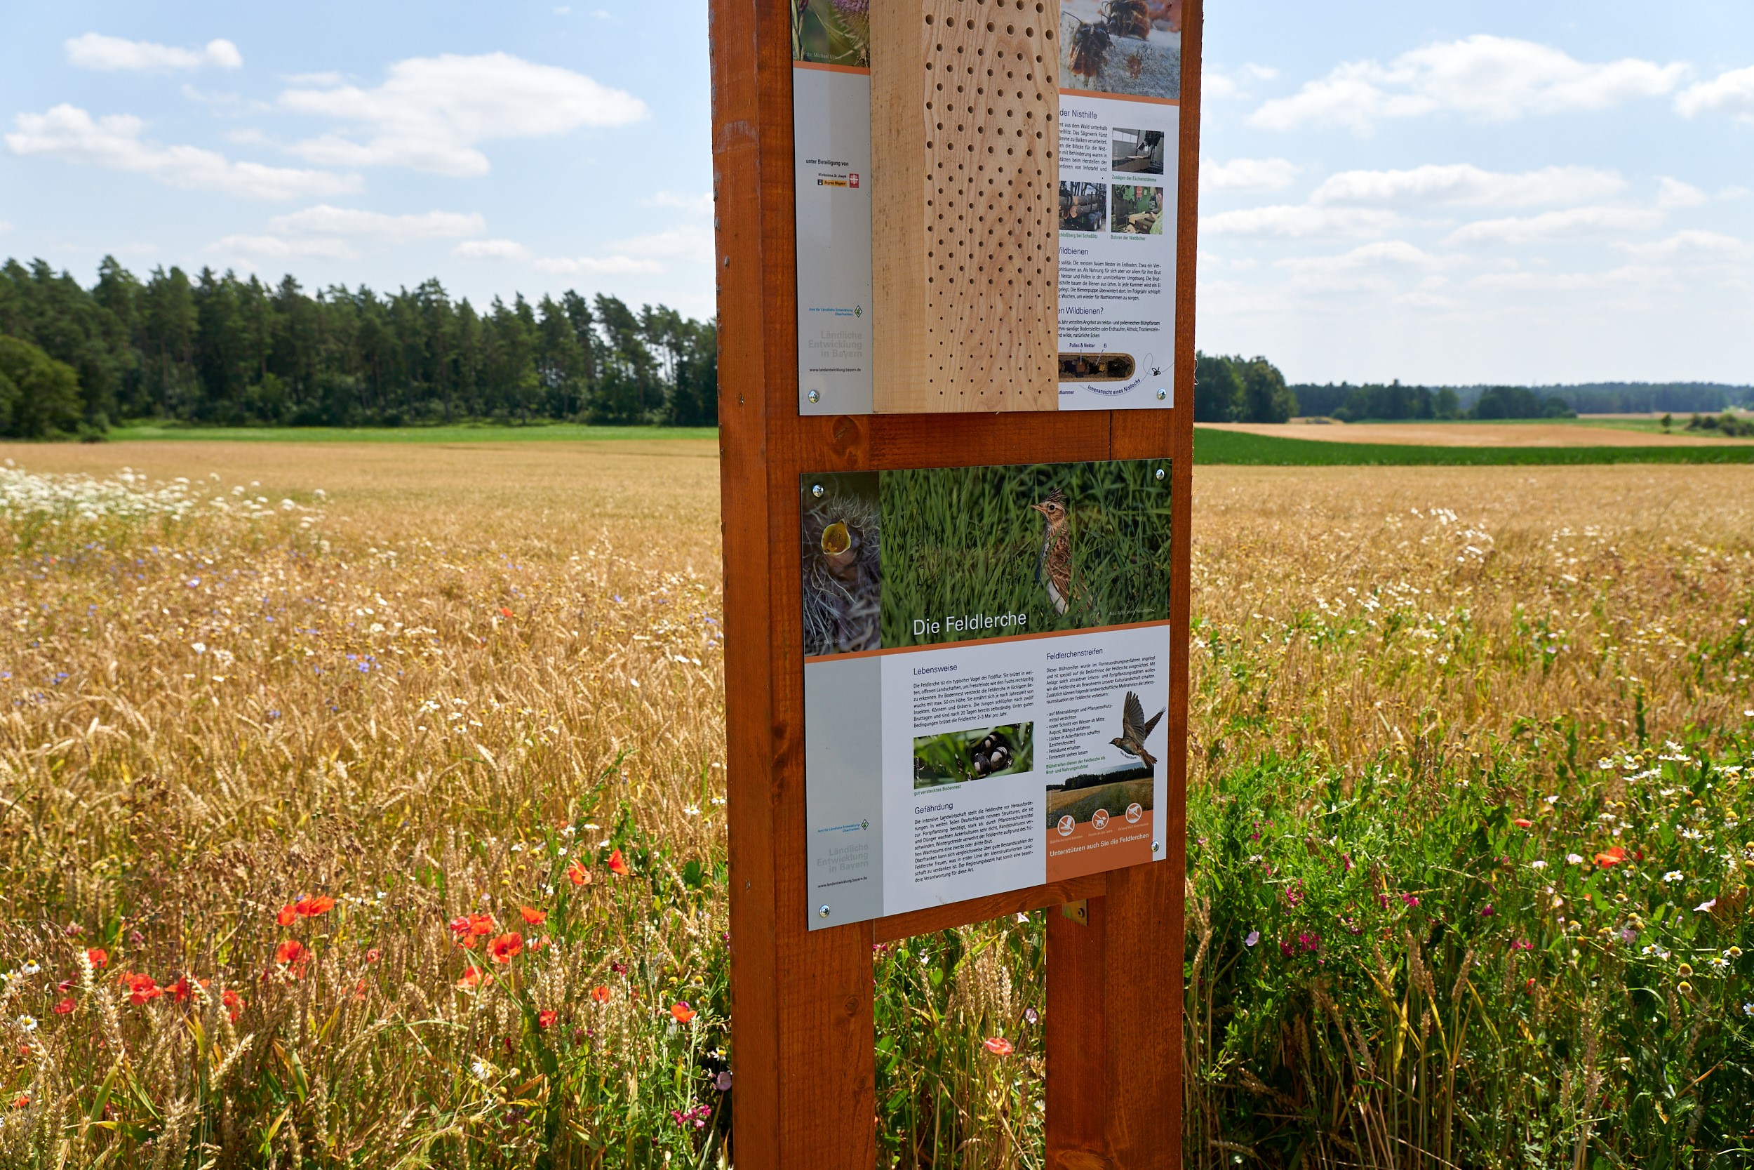
{"label": "wide photo of brown bird in green grass above Die Feldlerche title", "polygon": [[884,472],[882,644],[993,637],[951,623],[970,616],[1021,614],[1005,626],[1019,633],[1166,621],[1168,468],[1131,460]]}

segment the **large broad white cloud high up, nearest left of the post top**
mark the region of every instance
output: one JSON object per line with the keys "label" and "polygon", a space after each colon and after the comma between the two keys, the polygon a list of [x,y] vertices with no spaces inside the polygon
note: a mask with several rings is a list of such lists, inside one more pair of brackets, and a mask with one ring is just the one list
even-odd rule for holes
{"label": "large broad white cloud high up, nearest left of the post top", "polygon": [[314,163],[410,167],[444,175],[484,175],[481,142],[535,139],[581,126],[624,126],[647,116],[623,89],[554,65],[507,53],[430,56],[396,61],[375,89],[324,84],[288,89],[281,105],[354,123],[291,149]]}

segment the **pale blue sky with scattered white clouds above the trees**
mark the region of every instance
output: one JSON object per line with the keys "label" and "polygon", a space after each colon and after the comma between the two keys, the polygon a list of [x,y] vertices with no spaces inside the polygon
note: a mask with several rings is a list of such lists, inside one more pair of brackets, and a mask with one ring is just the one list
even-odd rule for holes
{"label": "pale blue sky with scattered white clouds above the trees", "polygon": [[[712,312],[703,0],[9,5],[0,254]],[[1214,2],[1200,346],[1754,381],[1754,5]]]}

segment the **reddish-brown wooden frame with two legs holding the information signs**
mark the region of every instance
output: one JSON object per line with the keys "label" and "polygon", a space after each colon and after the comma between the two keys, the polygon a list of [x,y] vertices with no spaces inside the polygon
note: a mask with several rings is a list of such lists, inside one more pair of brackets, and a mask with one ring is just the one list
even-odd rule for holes
{"label": "reddish-brown wooden frame with two legs holding the information signs", "polygon": [[[710,4],[735,1163],[875,1165],[873,942],[1089,898],[1087,926],[1049,914],[1049,1165],[1180,1166],[1200,0],[1182,32],[1175,409],[840,417],[798,412],[791,4]],[[798,475],[1163,456],[1175,509],[1168,861],[807,930]]]}

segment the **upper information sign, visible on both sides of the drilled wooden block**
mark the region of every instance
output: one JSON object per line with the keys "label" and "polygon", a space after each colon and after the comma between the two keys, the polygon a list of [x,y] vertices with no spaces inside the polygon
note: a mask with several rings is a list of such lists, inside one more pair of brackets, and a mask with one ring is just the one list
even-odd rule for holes
{"label": "upper information sign, visible on both sides of the drilled wooden block", "polygon": [[[1061,410],[1168,409],[1180,0],[1063,0]],[[865,0],[793,9],[798,409],[870,414],[872,86]]]}

